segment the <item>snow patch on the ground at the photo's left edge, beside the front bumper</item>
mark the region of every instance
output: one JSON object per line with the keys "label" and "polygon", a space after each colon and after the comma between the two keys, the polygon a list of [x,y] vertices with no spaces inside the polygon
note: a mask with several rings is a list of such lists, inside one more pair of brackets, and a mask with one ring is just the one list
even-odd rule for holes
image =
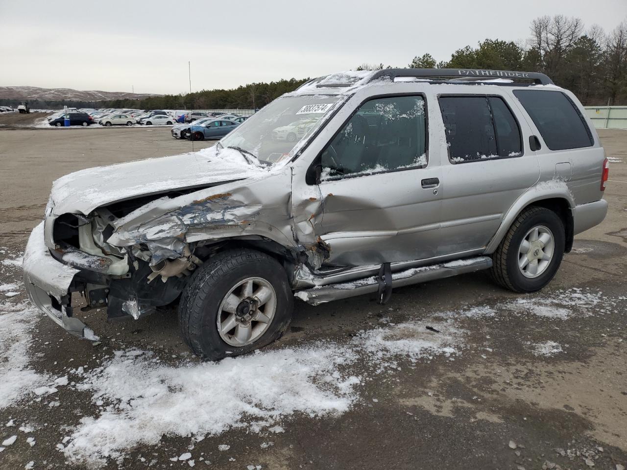
{"label": "snow patch on the ground at the photo's left edge, beside the front bumper", "polygon": [[0,409],[48,380],[28,367],[30,332],[37,318],[38,312],[25,303],[0,301]]}

